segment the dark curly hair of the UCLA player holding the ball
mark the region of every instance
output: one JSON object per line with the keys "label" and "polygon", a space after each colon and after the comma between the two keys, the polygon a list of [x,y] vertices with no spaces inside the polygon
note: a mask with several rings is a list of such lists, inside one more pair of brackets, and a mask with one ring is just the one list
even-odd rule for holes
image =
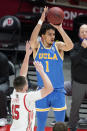
{"label": "dark curly hair of the UCLA player holding the ball", "polygon": [[52,25],[50,25],[49,23],[43,23],[41,30],[39,32],[39,36],[44,35],[46,33],[46,31],[50,30],[50,29],[55,31],[55,28]]}

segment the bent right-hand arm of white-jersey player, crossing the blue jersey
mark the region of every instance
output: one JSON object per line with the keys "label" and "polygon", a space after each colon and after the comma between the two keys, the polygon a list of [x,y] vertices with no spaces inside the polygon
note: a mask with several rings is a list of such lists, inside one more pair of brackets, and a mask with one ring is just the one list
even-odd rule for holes
{"label": "bent right-hand arm of white-jersey player, crossing the blue jersey", "polygon": [[45,97],[53,91],[52,83],[50,79],[48,78],[47,74],[44,72],[43,65],[41,64],[41,62],[38,62],[38,61],[34,62],[34,65],[36,67],[36,70],[40,73],[40,76],[44,83],[44,88],[40,90],[41,97]]}

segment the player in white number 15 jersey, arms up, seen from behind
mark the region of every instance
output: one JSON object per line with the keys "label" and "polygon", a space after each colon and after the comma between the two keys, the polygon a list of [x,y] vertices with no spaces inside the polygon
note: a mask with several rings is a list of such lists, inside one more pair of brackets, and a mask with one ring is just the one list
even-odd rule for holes
{"label": "player in white number 15 jersey, arms up, seen from behind", "polygon": [[32,53],[29,42],[26,43],[26,54],[20,70],[20,76],[14,80],[14,91],[11,95],[11,110],[13,122],[10,131],[34,131],[35,123],[35,101],[39,100],[53,91],[51,81],[45,74],[40,62],[34,62],[36,70],[42,77],[44,87],[39,91],[26,92],[28,82],[26,79],[28,72],[29,56]]}

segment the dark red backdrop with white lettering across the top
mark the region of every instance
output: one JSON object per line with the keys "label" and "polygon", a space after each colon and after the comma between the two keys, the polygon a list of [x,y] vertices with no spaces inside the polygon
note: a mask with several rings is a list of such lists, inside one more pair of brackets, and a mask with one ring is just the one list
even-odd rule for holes
{"label": "dark red backdrop with white lettering across the top", "polygon": [[[68,7],[68,6],[60,6],[56,4],[50,4],[46,3],[46,6],[53,7],[53,6],[58,6],[64,10],[64,21],[63,21],[63,27],[64,29],[67,30],[72,30],[73,29],[73,19],[81,14],[87,14],[87,8],[81,9],[78,7]],[[3,0],[0,4],[0,18],[5,15],[16,15],[19,12],[23,13],[42,13],[42,10],[44,8],[43,4],[37,4],[34,2],[29,2],[28,0],[20,1],[20,0]],[[19,16],[21,17],[26,17],[25,20],[26,22],[27,19],[29,19],[29,15],[27,16]]]}

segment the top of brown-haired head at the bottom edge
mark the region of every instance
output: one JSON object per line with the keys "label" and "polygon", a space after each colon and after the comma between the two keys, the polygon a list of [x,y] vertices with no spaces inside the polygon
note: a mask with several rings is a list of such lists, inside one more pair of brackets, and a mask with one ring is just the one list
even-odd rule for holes
{"label": "top of brown-haired head at the bottom edge", "polygon": [[65,122],[57,122],[53,127],[53,131],[68,131],[68,127]]}

